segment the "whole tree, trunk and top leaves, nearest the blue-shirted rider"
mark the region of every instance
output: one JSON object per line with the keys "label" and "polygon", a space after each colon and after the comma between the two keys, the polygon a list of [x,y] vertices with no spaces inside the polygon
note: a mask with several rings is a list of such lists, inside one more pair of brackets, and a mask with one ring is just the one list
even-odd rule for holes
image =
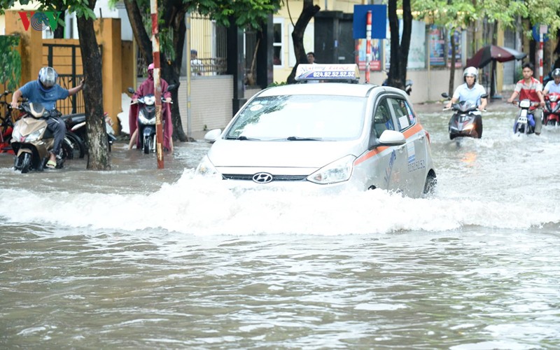
{"label": "whole tree, trunk and top leaves, nearest the blue-shirted rider", "polygon": [[[111,169],[109,144],[107,142],[105,121],[103,118],[103,82],[101,73],[101,53],[95,38],[93,8],[97,0],[40,0],[39,11],[70,10],[76,12],[78,18],[78,35],[83,59],[85,86],[83,97],[85,102],[85,120],[87,138],[90,148],[87,158],[87,169]],[[20,0],[26,5],[30,0]],[[0,11],[12,8],[14,0],[0,0]],[[61,23],[64,25],[64,23]]]}

